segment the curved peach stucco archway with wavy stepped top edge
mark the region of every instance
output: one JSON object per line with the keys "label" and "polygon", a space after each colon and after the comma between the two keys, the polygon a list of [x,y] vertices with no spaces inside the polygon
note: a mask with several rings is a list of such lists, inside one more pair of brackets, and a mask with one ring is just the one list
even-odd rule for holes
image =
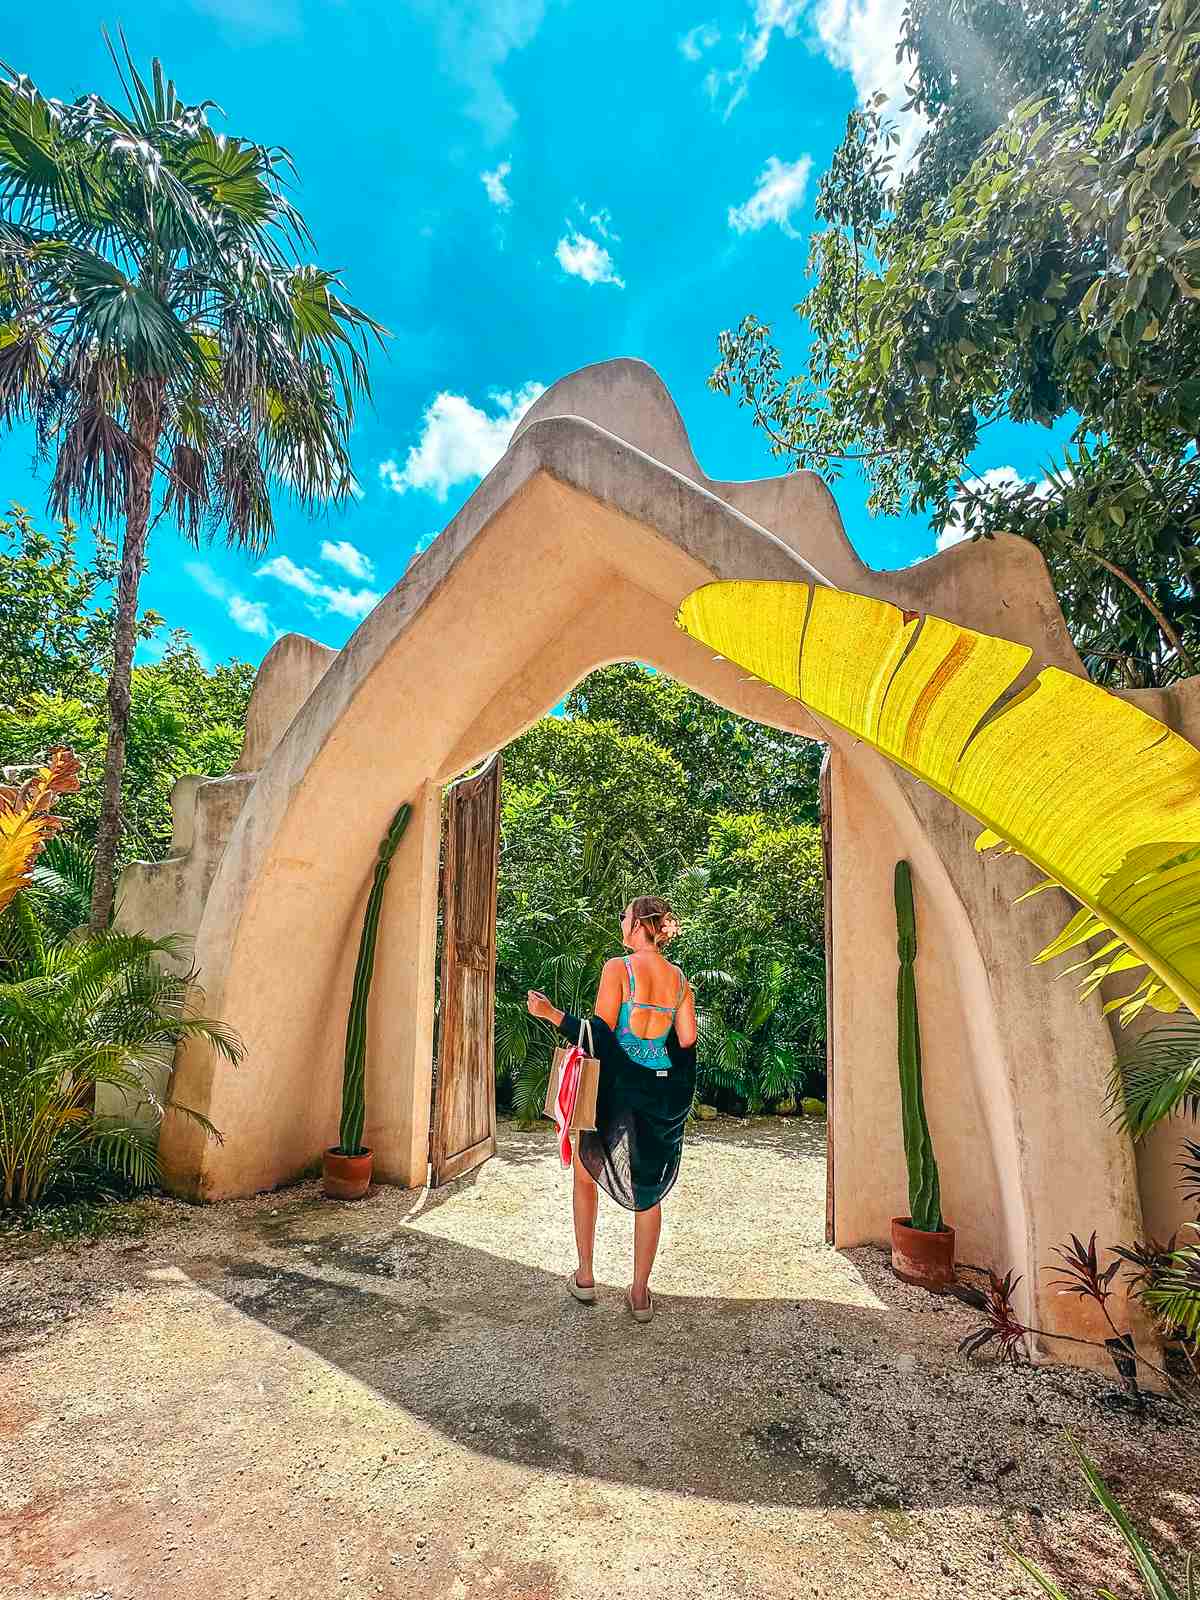
{"label": "curved peach stucco archway with wavy stepped top edge", "polygon": [[[346,1005],[371,861],[400,800],[368,1042],[376,1173],[426,1178],[438,811],[443,784],[544,715],[594,667],[638,659],[778,728],[826,738],[787,696],[685,637],[710,578],[832,582],[934,611],[1080,672],[1042,558],[1024,541],[864,566],[811,474],[707,478],[656,374],[586,368],[550,389],[445,533],[336,654],[299,638],[259,674],[238,771],[179,797],[178,851],[123,880],[125,920],[195,933],[206,1008],[246,1061],[181,1051],[174,1096],[224,1134],[168,1118],[168,1182],[221,1198],[296,1176],[338,1126]],[[1192,709],[1197,699],[1187,701]],[[1154,707],[1163,715],[1163,707]],[[1179,725],[1174,702],[1166,720]],[[1184,730],[1186,731],[1186,730]],[[834,731],[830,792],[835,1242],[883,1242],[904,1210],[891,872],[914,867],[930,1123],[965,1261],[1024,1275],[1024,1310],[1096,1331],[1040,1270],[1070,1232],[1141,1227],[1133,1152],[1101,1115],[1112,1035],[1030,958],[1059,896],[1013,909],[1034,872],[974,851],[976,826]],[[1059,904],[1054,904],[1054,899]]]}

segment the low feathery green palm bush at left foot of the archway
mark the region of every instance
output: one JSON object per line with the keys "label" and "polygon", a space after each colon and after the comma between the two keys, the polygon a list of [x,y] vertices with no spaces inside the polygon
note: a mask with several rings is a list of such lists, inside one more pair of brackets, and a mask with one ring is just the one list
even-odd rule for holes
{"label": "low feathery green palm bush at left foot of the archway", "polygon": [[[178,962],[179,941],[106,930],[48,944],[27,906],[19,915],[27,955],[0,982],[0,1206],[37,1205],[51,1182],[86,1166],[154,1182],[154,1125],[168,1110],[219,1139],[158,1088],[184,1038],[242,1059],[238,1037],[192,1010],[192,974],[162,965]],[[138,1123],[94,1114],[101,1083],[126,1096]]]}

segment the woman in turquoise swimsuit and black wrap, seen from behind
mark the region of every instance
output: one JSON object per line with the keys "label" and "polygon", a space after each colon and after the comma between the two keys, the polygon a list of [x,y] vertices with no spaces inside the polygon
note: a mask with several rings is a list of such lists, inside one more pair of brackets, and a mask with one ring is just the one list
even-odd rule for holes
{"label": "woman in turquoise swimsuit and black wrap, seen from behind", "polygon": [[[600,1059],[595,1131],[576,1134],[573,1158],[574,1240],[579,1266],[568,1278],[576,1299],[597,1298],[592,1274],[598,1190],[634,1211],[634,1283],[626,1304],[650,1322],[650,1270],[662,1227],[662,1197],[678,1176],[683,1123],[696,1090],[696,1002],[683,973],[664,955],[678,923],[664,899],[643,894],[621,917],[626,957],[605,962],[592,1035]],[[528,995],[570,1043],[581,1019],[560,1011],[541,990]]]}

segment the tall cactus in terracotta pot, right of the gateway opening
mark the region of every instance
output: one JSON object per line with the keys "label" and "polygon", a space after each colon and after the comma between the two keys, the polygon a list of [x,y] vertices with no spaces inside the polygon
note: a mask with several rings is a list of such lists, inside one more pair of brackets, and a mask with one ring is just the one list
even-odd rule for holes
{"label": "tall cactus in terracotta pot, right of the gateway opening", "polygon": [[917,1021],[917,917],[912,870],[896,862],[896,1034],[901,1080],[904,1160],[909,1166],[909,1216],[891,1219],[891,1270],[906,1283],[946,1290],[954,1283],[954,1229],[942,1219],[938,1162],[922,1091],[922,1034]]}

